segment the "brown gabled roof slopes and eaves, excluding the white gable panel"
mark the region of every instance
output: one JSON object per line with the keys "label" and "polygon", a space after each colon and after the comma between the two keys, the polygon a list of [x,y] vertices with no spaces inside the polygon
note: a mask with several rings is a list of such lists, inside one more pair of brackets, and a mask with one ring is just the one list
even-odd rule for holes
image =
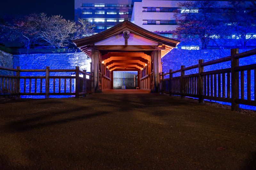
{"label": "brown gabled roof slopes and eaves, excluding the white gable panel", "polygon": [[[175,48],[177,44],[180,43],[179,40],[167,38],[161,35],[158,35],[156,33],[152,33],[144,28],[141,28],[140,26],[137,26],[133,24],[132,22],[125,20],[116,26],[113,26],[105,31],[102,31],[98,34],[73,40],[72,42],[81,49],[86,55],[91,55],[90,50],[87,49],[87,46],[90,46],[96,42],[105,40],[109,37],[115,36],[117,34],[123,33],[123,31],[128,30],[130,33],[133,33],[135,35],[144,37],[148,40],[155,41],[159,44],[165,45],[167,49],[165,50],[164,53],[168,53],[172,48]],[[169,50],[168,50],[169,49]],[[143,49],[142,49],[143,50]],[[165,55],[165,54],[164,54]],[[91,56],[90,56],[91,57]]]}

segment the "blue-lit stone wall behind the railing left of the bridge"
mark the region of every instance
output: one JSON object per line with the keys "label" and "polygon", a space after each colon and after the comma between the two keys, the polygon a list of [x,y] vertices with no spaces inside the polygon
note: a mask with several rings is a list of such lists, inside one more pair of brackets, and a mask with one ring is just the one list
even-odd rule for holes
{"label": "blue-lit stone wall behind the railing left of the bridge", "polygon": [[[84,53],[69,54],[30,54],[30,55],[13,55],[13,68],[20,66],[20,69],[75,69],[80,66],[80,70],[91,70],[91,59],[87,58]],[[74,72],[50,72],[50,76],[70,76]],[[21,72],[20,76],[45,76],[45,72]],[[69,79],[67,79],[67,91],[69,92]],[[31,92],[35,92],[35,79],[32,79]],[[20,80],[20,92],[24,92],[24,80]],[[61,92],[64,92],[64,79],[60,80]],[[42,82],[42,92],[45,92],[45,79]],[[40,80],[37,79],[37,92],[39,92]],[[29,80],[26,80],[26,92],[29,91]],[[55,81],[55,92],[59,91],[59,79]],[[75,91],[74,79],[71,82],[71,92]],[[53,92],[53,79],[50,79],[50,92]],[[21,96],[22,98],[44,98],[45,96]],[[71,96],[50,96],[55,98],[71,97]]]}

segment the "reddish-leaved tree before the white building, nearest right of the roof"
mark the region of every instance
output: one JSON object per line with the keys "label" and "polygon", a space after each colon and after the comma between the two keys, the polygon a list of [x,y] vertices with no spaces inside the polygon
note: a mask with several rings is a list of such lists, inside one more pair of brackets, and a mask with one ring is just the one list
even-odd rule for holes
{"label": "reddish-leaved tree before the white building, nearest right of the roof", "polygon": [[180,9],[174,13],[178,25],[174,34],[182,41],[199,39],[202,49],[206,49],[213,38],[223,35],[223,18],[216,1],[187,1],[178,6]]}

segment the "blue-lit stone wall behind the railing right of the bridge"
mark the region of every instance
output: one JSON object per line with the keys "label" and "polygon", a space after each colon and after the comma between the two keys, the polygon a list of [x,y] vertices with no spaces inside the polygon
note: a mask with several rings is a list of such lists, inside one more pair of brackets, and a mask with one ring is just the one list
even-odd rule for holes
{"label": "blue-lit stone wall behind the railing right of the bridge", "polygon": [[[239,50],[239,53],[248,51],[250,49]],[[218,58],[226,57],[230,55],[230,50],[184,50],[184,49],[176,49],[174,48],[167,55],[162,58],[162,70],[164,73],[169,72],[169,69],[179,70],[180,65],[185,65],[185,67],[189,67],[191,65],[198,64],[198,59],[204,59],[204,62],[212,61]],[[250,56],[239,59],[239,66],[254,64],[256,63],[256,56]],[[204,71],[218,70],[230,68],[230,61],[214,64],[210,66],[204,67]],[[185,75],[198,73],[198,69],[187,70],[185,71]],[[173,77],[180,76],[180,73],[173,74]],[[227,75],[226,75],[227,76]],[[169,75],[164,78],[168,78]],[[239,73],[240,78],[240,73]],[[247,71],[244,71],[244,99],[247,99]],[[227,82],[227,78],[226,78]],[[254,71],[251,71],[251,99],[254,100]],[[222,85],[221,85],[222,86]],[[241,90],[241,89],[240,89]],[[240,92],[241,93],[241,92]],[[222,95],[222,94],[221,94]],[[227,94],[226,94],[227,95]],[[241,96],[241,94],[240,94]],[[216,101],[217,102],[217,101]],[[230,103],[218,102],[221,104],[230,105]],[[253,109],[256,110],[256,107],[240,105],[241,108]]]}

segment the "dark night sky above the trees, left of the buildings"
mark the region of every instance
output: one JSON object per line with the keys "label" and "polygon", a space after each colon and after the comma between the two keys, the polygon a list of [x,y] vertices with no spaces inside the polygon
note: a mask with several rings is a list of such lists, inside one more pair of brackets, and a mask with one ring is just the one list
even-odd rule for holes
{"label": "dark night sky above the trees, left of the buildings", "polygon": [[27,15],[44,12],[47,15],[61,15],[74,20],[74,0],[4,0],[0,15]]}

